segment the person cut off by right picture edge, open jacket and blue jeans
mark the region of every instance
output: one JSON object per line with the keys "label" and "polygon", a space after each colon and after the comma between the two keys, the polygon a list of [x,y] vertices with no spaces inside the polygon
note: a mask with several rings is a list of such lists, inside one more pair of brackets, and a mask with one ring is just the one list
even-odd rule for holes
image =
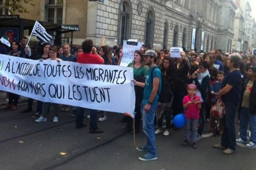
{"label": "person cut off by right picture edge, open jacket and blue jeans", "polygon": [[242,104],[240,114],[240,138],[236,142],[246,144],[247,126],[250,124],[250,142],[245,146],[252,148],[256,146],[256,67],[248,68],[249,79],[242,86]]}

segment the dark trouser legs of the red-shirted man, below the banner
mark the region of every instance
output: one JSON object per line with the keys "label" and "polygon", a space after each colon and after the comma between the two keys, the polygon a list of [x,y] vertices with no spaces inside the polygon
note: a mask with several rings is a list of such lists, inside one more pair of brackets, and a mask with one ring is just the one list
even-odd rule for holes
{"label": "dark trouser legs of the red-shirted man, below the banner", "polygon": [[[97,111],[89,109],[90,112],[90,130],[98,129],[97,126]],[[84,108],[77,107],[76,126],[84,124]]]}

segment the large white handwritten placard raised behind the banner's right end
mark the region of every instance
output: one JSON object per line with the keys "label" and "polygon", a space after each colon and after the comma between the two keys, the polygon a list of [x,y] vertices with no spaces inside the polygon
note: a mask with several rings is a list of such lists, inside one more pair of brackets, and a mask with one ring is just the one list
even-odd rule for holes
{"label": "large white handwritten placard raised behind the banner's right end", "polygon": [[134,52],[140,50],[143,42],[126,41],[123,42],[123,57],[120,63],[121,66],[127,66],[134,59]]}

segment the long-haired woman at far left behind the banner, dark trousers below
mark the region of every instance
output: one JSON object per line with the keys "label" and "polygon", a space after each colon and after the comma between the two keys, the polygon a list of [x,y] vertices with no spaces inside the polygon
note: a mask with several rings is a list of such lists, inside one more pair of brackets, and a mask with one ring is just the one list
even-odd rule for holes
{"label": "long-haired woman at far left behind the banner, dark trousers below", "polygon": [[[10,56],[14,57],[26,57],[26,54],[21,50],[20,43],[17,42],[16,40],[13,40],[11,43],[11,51],[8,53]],[[17,104],[19,100],[19,95],[9,93],[9,101],[6,109],[10,109],[10,111],[15,111],[17,110]]]}

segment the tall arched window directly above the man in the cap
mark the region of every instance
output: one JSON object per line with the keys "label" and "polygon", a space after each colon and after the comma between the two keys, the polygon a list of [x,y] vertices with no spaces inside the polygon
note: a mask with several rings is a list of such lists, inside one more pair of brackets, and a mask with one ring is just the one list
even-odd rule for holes
{"label": "tall arched window directly above the man in the cap", "polygon": [[149,10],[146,17],[145,45],[148,48],[153,46],[154,37],[154,12]]}

